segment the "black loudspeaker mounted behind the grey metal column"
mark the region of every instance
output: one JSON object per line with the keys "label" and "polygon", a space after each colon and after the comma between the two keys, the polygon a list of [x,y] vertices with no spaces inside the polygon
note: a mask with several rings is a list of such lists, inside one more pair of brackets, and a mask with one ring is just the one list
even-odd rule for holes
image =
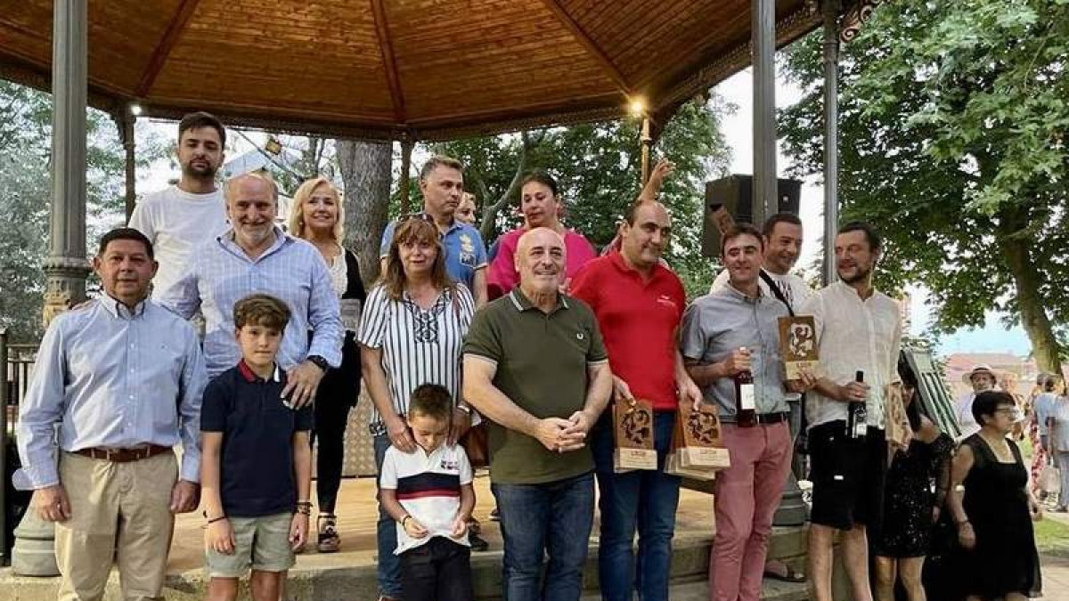
{"label": "black loudspeaker mounted behind the grey metal column", "polygon": [[[799,213],[802,182],[799,180],[776,180],[779,197],[779,213]],[[728,175],[722,180],[706,182],[706,203],[701,221],[701,255],[721,256],[721,231],[716,227],[713,213],[724,207],[735,221],[754,221],[754,176]],[[761,228],[761,224],[754,224]]]}

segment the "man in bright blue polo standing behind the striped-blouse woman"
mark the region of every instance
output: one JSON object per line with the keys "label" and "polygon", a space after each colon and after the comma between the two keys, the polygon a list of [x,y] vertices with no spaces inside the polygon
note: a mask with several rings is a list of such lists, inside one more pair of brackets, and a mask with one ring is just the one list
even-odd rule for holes
{"label": "man in bright blue polo standing behind the striped-blouse woman", "polygon": [[[441,233],[449,277],[471,291],[476,307],[486,304],[486,246],[479,230],[454,218],[464,192],[464,170],[461,163],[446,156],[432,156],[419,171],[419,191],[423,195],[423,212],[419,215],[432,221]],[[390,221],[383,232],[378,258],[386,271],[386,258],[397,221]]]}

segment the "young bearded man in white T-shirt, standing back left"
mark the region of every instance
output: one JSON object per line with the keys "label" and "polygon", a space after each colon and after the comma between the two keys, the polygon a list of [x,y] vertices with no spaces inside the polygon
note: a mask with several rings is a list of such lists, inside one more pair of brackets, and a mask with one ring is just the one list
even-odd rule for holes
{"label": "young bearded man in white T-shirt, standing back left", "polygon": [[222,165],[227,130],[206,112],[191,112],[179,122],[177,185],[145,195],[134,207],[129,227],[156,249],[159,271],[152,298],[158,300],[185,271],[193,248],[227,231],[227,205],[215,174]]}

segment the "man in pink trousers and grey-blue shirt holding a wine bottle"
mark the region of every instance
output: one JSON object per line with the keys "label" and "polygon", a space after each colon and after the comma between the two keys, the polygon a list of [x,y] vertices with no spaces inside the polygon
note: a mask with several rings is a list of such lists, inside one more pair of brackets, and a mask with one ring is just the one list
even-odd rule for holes
{"label": "man in pink trousers and grey-blue shirt holding a wine bottle", "polygon": [[[739,224],[722,236],[728,269],[723,289],[701,296],[683,315],[683,360],[706,401],[716,403],[731,466],[716,475],[716,537],[710,556],[715,599],[757,600],[772,518],[791,467],[790,407],[779,353],[779,318],[787,306],[760,286],[761,232]],[[753,396],[735,379],[753,376]],[[741,400],[737,396],[743,392]],[[742,419],[737,407],[753,410]]]}

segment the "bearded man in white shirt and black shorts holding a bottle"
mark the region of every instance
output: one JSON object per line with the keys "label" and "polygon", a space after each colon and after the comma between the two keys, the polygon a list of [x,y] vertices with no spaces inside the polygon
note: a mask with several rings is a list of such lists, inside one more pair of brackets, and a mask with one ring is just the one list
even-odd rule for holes
{"label": "bearded man in white shirt and black shorts holding a bottle", "polygon": [[[867,526],[879,526],[887,466],[884,399],[900,383],[902,335],[898,305],[872,288],[882,252],[868,224],[853,221],[835,236],[839,281],[799,309],[811,314],[823,370],[807,398],[812,513],[809,577],[817,601],[832,601],[832,542],[840,530],[853,598],[871,601]],[[857,374],[862,374],[861,382]],[[861,406],[852,404],[861,404]],[[864,412],[859,411],[864,410]],[[861,423],[856,416],[866,414]],[[848,425],[854,416],[857,428]]]}

